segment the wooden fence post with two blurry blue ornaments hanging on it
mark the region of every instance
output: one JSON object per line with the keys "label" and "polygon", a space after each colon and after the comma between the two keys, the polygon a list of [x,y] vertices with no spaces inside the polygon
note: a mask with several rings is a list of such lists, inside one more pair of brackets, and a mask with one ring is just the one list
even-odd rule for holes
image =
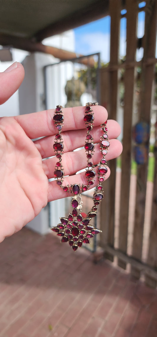
{"label": "wooden fence post with two blurry blue ornaments hanging on it", "polygon": [[[155,57],[156,33],[157,33],[157,2],[154,0],[148,0],[146,2],[143,63],[147,61],[147,58]],[[150,123],[153,80],[154,80],[154,64],[147,64],[146,62],[145,65],[144,64],[142,65],[140,121],[145,121],[147,123]],[[132,256],[138,260],[141,260],[142,256],[147,171],[148,171],[148,160],[145,164],[138,165],[138,172],[137,172],[136,208],[135,208]],[[132,267],[131,273],[137,278],[140,277],[140,270],[138,270],[138,268]]]}

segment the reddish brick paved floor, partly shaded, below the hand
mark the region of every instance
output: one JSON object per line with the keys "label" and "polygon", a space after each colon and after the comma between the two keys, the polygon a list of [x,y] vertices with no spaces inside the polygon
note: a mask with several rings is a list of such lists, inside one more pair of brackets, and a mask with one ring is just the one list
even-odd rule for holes
{"label": "reddish brick paved floor, partly shaded, below the hand", "polygon": [[156,337],[157,292],[53,233],[0,244],[0,337]]}

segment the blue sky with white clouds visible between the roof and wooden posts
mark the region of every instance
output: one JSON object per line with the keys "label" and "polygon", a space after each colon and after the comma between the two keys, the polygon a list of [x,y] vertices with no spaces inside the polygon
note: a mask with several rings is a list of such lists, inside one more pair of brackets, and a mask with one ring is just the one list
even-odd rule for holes
{"label": "blue sky with white clouds visible between the roof and wooden posts", "polygon": [[[141,7],[144,2],[141,3]],[[139,5],[140,7],[140,5]],[[138,37],[144,35],[145,13],[139,13]],[[75,52],[78,54],[89,55],[101,52],[101,60],[109,62],[110,59],[110,17],[96,20],[84,26],[74,29],[75,33]],[[121,20],[120,29],[120,56],[125,55],[126,50],[126,19]],[[138,53],[137,59],[142,57],[142,50]]]}

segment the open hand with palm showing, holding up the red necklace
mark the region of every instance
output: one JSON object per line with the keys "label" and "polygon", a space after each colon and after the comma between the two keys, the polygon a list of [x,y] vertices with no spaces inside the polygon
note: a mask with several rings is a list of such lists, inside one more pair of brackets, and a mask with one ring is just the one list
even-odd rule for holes
{"label": "open hand with palm showing, holding up the red necklace", "polygon": [[[9,69],[7,69],[9,70]],[[20,63],[11,71],[0,73],[0,104],[4,103],[20,86],[24,78],[24,69]],[[56,128],[53,123],[54,109],[15,117],[0,118],[0,242],[5,237],[19,231],[31,221],[47,202],[69,196],[53,178],[56,157],[53,143]],[[62,163],[67,184],[86,184],[84,172],[74,175],[86,167],[85,150],[74,151],[83,147],[86,129],[83,121],[85,108],[64,109],[64,155]],[[102,106],[93,106],[94,128],[92,134],[95,143],[100,142],[100,124],[106,121],[107,111]],[[115,138],[120,134],[116,121],[108,121],[110,148],[106,159],[120,155],[121,143]],[[38,137],[40,140],[32,141]],[[99,144],[95,145],[93,163],[97,164],[102,155]],[[108,173],[105,177],[109,177]],[[98,184],[95,180],[93,186]]]}

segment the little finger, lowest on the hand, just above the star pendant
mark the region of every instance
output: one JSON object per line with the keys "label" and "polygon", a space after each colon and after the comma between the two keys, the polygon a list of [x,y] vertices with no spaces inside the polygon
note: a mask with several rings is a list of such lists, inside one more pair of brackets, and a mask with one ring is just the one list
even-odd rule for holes
{"label": "little finger, lowest on the hand, just above the star pendant", "polygon": [[[97,168],[96,168],[96,170],[97,170]],[[110,169],[108,167],[108,171],[107,171],[106,175],[104,176],[104,180],[109,178],[109,176],[110,176]],[[76,184],[76,183],[80,184],[80,185],[82,185],[82,184],[86,185],[87,184],[87,180],[86,180],[84,172],[81,172],[81,173],[79,173],[77,175],[74,175],[74,176],[65,177],[65,179],[64,179],[64,186],[73,185],[73,184]],[[95,187],[98,184],[99,184],[99,180],[96,177],[95,181],[94,181],[94,184],[91,185],[89,187],[89,189]],[[53,201],[53,200],[57,200],[57,199],[61,199],[61,198],[65,198],[67,196],[72,196],[72,194],[68,193],[68,192],[64,192],[63,188],[59,188],[55,181],[49,182],[48,195],[47,195],[48,202]]]}

